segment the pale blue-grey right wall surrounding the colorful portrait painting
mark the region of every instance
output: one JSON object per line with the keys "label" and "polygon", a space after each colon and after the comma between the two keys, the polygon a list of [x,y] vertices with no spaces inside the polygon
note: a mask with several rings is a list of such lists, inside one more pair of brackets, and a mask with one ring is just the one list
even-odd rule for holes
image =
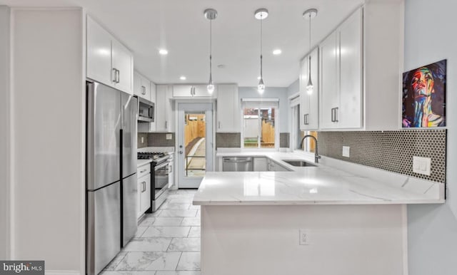
{"label": "pale blue-grey right wall surrounding the colorful portrait painting", "polygon": [[443,205],[408,206],[410,275],[455,275],[457,272],[456,10],[457,1],[406,0],[404,71],[448,60],[448,196]]}

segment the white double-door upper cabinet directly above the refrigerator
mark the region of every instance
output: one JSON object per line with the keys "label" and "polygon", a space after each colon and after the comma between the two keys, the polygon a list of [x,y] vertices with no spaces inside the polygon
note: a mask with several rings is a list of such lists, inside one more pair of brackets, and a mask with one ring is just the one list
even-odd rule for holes
{"label": "white double-door upper cabinet directly above the refrigerator", "polygon": [[86,76],[132,94],[134,58],[131,51],[90,16],[87,16],[86,35]]}

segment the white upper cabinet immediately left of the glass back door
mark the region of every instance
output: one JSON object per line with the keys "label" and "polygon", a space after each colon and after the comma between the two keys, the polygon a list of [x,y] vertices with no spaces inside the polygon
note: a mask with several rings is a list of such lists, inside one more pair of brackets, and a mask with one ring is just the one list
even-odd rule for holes
{"label": "white upper cabinet immediately left of the glass back door", "polygon": [[156,85],[156,131],[174,132],[174,111],[171,85]]}

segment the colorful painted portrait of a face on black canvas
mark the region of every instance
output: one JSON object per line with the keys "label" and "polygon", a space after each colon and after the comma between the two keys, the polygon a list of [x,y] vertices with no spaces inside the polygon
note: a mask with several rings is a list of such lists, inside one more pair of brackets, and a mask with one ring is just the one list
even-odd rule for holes
{"label": "colorful painted portrait of a face on black canvas", "polygon": [[403,73],[402,125],[446,126],[446,59]]}

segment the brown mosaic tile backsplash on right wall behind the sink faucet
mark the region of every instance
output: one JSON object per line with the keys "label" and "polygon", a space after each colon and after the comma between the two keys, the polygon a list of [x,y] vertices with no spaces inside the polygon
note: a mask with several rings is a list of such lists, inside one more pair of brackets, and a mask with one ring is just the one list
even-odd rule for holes
{"label": "brown mosaic tile backsplash on right wall behind the sink faucet", "polygon": [[[350,156],[343,157],[344,146]],[[446,130],[319,132],[320,155],[433,182],[446,182]],[[413,172],[413,156],[431,157],[431,175]]]}

